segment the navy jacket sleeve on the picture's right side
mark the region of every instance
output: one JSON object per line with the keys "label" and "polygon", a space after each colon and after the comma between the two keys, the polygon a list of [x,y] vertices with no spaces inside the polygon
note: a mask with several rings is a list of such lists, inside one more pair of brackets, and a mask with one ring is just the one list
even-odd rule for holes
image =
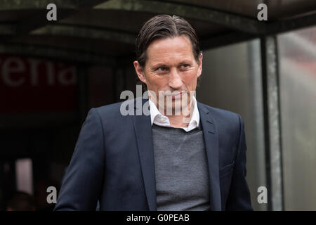
{"label": "navy jacket sleeve on the picture's right side", "polygon": [[238,115],[238,119],[239,141],[225,210],[253,210],[249,187],[246,182],[246,139],[244,134],[244,122],[240,115]]}

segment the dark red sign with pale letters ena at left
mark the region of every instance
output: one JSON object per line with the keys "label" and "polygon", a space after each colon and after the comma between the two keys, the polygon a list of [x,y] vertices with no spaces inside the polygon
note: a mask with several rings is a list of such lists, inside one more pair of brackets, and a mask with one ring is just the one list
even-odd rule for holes
{"label": "dark red sign with pale letters ena at left", "polygon": [[0,56],[0,113],[73,111],[75,67],[19,56]]}

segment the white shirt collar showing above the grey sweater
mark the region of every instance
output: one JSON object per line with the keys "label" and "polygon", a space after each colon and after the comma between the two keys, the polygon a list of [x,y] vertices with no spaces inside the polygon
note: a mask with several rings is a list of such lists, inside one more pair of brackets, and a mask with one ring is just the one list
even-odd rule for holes
{"label": "white shirt collar showing above the grey sweater", "polygon": [[[156,124],[162,127],[172,127],[169,118],[166,117],[166,115],[162,115],[162,113],[159,112],[156,104],[154,104],[150,99],[149,105],[150,119],[152,121],[152,124]],[[197,108],[197,100],[195,99],[195,96],[192,97],[191,108],[193,108],[193,113],[190,118],[189,125],[187,127],[181,127],[187,132],[199,127],[199,109]]]}

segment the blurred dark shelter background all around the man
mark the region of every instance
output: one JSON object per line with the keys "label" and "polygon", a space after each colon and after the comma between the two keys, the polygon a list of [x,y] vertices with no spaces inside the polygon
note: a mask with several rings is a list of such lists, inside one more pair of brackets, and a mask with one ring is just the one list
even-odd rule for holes
{"label": "blurred dark shelter background all around the man", "polygon": [[197,100],[242,115],[254,210],[316,210],[315,0],[1,0],[0,210],[53,209],[88,110],[136,92],[136,36],[158,14],[197,31]]}

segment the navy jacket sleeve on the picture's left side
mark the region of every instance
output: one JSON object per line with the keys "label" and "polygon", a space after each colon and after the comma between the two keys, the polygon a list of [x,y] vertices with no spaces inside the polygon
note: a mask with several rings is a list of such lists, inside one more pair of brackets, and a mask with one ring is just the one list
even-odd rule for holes
{"label": "navy jacket sleeve on the picture's left side", "polygon": [[103,127],[98,111],[92,108],[81,127],[54,210],[96,210],[104,163]]}

